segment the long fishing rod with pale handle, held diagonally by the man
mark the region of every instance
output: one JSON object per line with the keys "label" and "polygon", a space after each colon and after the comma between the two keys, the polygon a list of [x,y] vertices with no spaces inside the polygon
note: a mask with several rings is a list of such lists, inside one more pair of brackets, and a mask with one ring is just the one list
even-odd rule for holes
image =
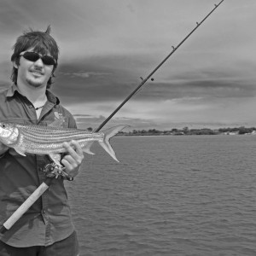
{"label": "long fishing rod with pale handle, held diagonally by the man", "polygon": [[[172,55],[173,55],[173,53],[174,53],[174,52],[192,35],[192,33],[194,33],[195,30],[196,30],[199,26],[201,26],[201,24],[202,24],[205,20],[207,20],[207,18],[208,18],[210,15],[212,15],[212,12],[213,12],[215,9],[217,9],[218,6],[219,6],[221,3],[223,3],[223,2],[224,2],[224,0],[220,1],[218,4],[214,4],[214,6],[215,6],[214,9],[212,9],[212,11],[209,12],[209,13],[205,16],[205,18],[204,18],[203,20],[201,20],[201,22],[196,22],[196,26],[195,26],[195,28],[194,28],[191,32],[189,32],[189,34],[188,34],[185,38],[183,38],[183,40],[182,40],[179,44],[177,44],[176,47],[172,46],[172,52],[171,52],[169,55],[167,55],[166,58],[165,58],[163,61],[161,61],[160,64],[159,64],[157,67],[155,67],[154,70],[153,70],[151,73],[148,74],[148,76],[147,76],[146,79],[142,79],[142,82],[137,86],[137,88],[136,88],[135,90],[133,90],[133,91],[131,92],[131,94],[125,98],[124,102],[122,102],[122,103],[119,105],[119,107],[116,108],[116,109],[113,111],[113,113],[111,113],[111,114],[108,116],[108,118],[105,119],[105,120],[102,122],[101,125],[99,125],[98,128],[96,128],[95,132],[98,132],[98,131],[101,131],[101,130],[102,130],[102,127],[103,127],[104,125],[106,125],[110,119],[113,118],[113,115],[114,115],[115,113],[117,113],[117,112],[119,111],[119,109],[122,108],[122,107],[125,105],[125,103],[128,102],[128,101],[131,99],[131,97],[134,96],[134,95],[137,93],[137,91],[143,86],[143,84],[146,84],[146,82],[148,81],[148,79],[150,79],[150,78],[152,77],[152,75],[153,75],[153,74],[154,74],[154,73],[172,56]],[[57,171],[58,171],[58,170],[57,170]],[[56,174],[58,174],[58,173],[56,173]],[[32,204],[33,204],[35,201],[37,201],[38,198],[39,198],[41,195],[43,195],[44,192],[45,192],[47,189],[49,189],[49,186],[50,186],[50,183],[51,183],[51,181],[52,181],[52,178],[53,178],[53,177],[47,177],[46,180],[45,180],[43,183],[41,183],[41,185],[38,187],[38,189],[36,189],[36,190],[32,193],[32,195],[30,195],[30,196],[26,199],[26,201],[24,201],[24,203],[9,217],[9,219],[2,225],[2,227],[0,227],[0,232],[1,232],[1,233],[4,233],[5,231],[9,230],[9,229],[16,223],[16,221],[18,221],[18,220],[20,219],[20,217],[28,210],[28,208],[31,207]]]}

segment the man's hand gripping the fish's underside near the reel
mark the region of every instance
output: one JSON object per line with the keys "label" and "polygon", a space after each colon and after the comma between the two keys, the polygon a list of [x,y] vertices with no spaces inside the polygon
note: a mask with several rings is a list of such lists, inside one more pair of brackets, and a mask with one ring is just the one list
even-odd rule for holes
{"label": "man's hand gripping the fish's underside near the reel", "polygon": [[63,147],[67,148],[67,154],[61,160],[61,163],[66,167],[64,172],[67,172],[70,177],[76,177],[84,159],[83,149],[76,141],[72,141],[71,145],[63,143]]}

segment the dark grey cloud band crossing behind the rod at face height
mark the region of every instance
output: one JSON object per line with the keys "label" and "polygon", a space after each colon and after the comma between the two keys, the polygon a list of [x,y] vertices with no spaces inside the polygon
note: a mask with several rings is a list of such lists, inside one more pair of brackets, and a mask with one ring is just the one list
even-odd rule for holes
{"label": "dark grey cloud band crossing behind the rod at face height", "polygon": [[[53,89],[67,103],[121,102],[141,83],[137,73],[141,64],[140,57],[130,61],[131,58],[127,61],[126,55],[106,55],[64,63],[57,73]],[[253,73],[251,63],[246,66],[243,62],[242,65],[247,67],[248,73]],[[178,67],[174,74],[166,70],[164,74],[156,74],[154,82],[149,80],[143,85],[134,99],[158,102],[183,97],[203,97],[208,100],[214,97],[251,96],[255,96],[254,80],[251,76],[245,76],[236,66],[204,67],[198,70]]]}

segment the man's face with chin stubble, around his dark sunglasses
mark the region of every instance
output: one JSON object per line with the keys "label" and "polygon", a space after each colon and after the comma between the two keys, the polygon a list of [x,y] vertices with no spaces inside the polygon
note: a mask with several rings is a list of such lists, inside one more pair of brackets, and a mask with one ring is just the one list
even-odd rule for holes
{"label": "man's face with chin stubble, around his dark sunglasses", "polygon": [[[33,51],[33,49],[26,51]],[[46,86],[54,66],[45,65],[41,58],[37,61],[28,61],[22,56],[22,53],[20,53],[20,65],[17,66],[17,84],[22,83],[33,87]]]}

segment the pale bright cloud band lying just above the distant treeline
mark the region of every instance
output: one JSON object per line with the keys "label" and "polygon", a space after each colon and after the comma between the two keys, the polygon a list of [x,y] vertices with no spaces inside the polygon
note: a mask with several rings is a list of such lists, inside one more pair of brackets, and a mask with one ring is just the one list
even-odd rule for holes
{"label": "pale bright cloud band lying just above the distant treeline", "polygon": [[[243,101],[236,98],[222,101],[216,98],[205,101],[200,97],[161,102],[131,101],[113,116],[107,126],[126,124],[131,125],[132,129],[157,128],[159,130],[183,128],[184,126],[194,128],[253,126],[254,113],[250,109],[256,108],[255,102],[256,98]],[[105,104],[108,105],[108,103]],[[91,106],[90,103],[84,104],[84,110],[91,115],[89,118],[79,119],[80,127],[96,128],[115,109],[105,108],[104,102],[100,102],[98,105],[98,108],[95,108],[95,105]],[[234,108],[236,108],[236,112],[234,112]],[[69,106],[69,109],[73,109],[73,106]]]}

